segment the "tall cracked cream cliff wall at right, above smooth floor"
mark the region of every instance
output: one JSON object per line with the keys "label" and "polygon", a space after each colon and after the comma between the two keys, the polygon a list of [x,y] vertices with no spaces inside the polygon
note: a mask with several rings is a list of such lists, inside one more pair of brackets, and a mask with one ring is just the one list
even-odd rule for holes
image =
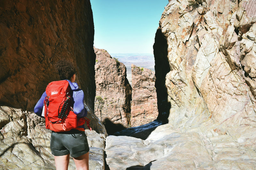
{"label": "tall cracked cream cliff wall at right, above smooth floor", "polygon": [[209,0],[193,10],[188,4],[170,1],[156,33],[167,43],[167,49],[154,47],[154,53],[168,52],[162,62],[168,59],[170,71],[160,77],[171,104],[168,121],[175,128],[199,126],[249,142],[256,137],[247,130],[254,129],[256,118],[256,5]]}

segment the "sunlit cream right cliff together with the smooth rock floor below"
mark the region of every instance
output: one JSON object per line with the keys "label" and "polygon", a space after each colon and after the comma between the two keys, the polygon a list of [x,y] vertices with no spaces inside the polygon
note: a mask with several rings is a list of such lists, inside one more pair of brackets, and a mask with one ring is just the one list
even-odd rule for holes
{"label": "sunlit cream right cliff together with the smooth rock floor below", "polygon": [[156,31],[157,104],[168,124],[146,140],[107,137],[110,169],[256,168],[255,1],[188,4],[170,0]]}

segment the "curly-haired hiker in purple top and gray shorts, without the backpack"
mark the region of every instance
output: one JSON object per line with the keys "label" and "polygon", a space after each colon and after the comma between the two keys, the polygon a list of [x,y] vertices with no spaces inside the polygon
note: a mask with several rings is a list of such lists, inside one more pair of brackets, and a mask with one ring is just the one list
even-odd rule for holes
{"label": "curly-haired hiker in purple top and gray shorts, without the backpack", "polygon": [[[71,87],[71,107],[73,107],[72,111],[77,115],[77,120],[85,117],[87,115],[87,110],[84,108],[84,92],[79,89],[77,83],[75,83],[75,67],[67,60],[60,60],[56,63],[56,70],[59,72],[60,79],[68,80],[68,84]],[[52,92],[53,95],[55,93],[58,92]],[[47,94],[44,92],[34,108],[36,115],[41,117],[43,107],[45,106],[44,100],[47,99],[46,96]],[[56,130],[56,132],[52,130],[50,148],[54,155],[57,170],[68,169],[69,156],[73,157],[77,170],[89,169],[89,145],[84,129],[84,125],[81,125],[68,131],[58,132],[58,130]]]}

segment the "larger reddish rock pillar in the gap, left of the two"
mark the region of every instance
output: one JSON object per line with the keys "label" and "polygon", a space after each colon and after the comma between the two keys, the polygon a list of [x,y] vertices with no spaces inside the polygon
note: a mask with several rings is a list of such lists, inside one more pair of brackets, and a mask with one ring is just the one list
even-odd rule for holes
{"label": "larger reddish rock pillar in the gap, left of the two", "polygon": [[129,127],[132,87],[126,78],[126,67],[113,59],[106,50],[94,48],[94,51],[96,54],[95,115],[104,122],[105,126],[114,123],[120,124],[121,128],[122,125]]}

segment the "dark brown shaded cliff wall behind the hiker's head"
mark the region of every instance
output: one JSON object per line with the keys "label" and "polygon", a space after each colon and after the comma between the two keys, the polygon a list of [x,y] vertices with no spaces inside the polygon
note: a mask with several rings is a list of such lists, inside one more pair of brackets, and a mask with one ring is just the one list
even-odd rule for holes
{"label": "dark brown shaded cliff wall behind the hiker's head", "polygon": [[76,81],[94,109],[90,1],[4,1],[0,15],[0,102],[32,111],[46,85],[59,79],[53,63],[66,58],[75,64]]}

